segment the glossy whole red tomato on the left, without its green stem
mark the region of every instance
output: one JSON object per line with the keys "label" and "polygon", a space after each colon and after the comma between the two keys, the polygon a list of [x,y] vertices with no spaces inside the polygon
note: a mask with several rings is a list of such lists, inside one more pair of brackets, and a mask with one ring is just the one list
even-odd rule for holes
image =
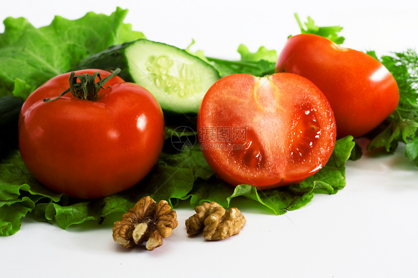
{"label": "glossy whole red tomato on the left, without its green stem", "polygon": [[[100,72],[87,69],[75,74]],[[34,177],[58,193],[97,198],[126,190],[156,164],[164,143],[164,118],[157,100],[143,87],[115,76],[95,101],[71,93],[70,73],[36,89],[23,104],[19,147]],[[98,79],[96,78],[96,81]]]}

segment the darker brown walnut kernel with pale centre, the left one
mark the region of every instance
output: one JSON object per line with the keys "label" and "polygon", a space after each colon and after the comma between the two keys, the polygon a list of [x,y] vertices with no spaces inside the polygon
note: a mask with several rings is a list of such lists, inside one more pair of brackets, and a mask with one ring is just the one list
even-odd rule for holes
{"label": "darker brown walnut kernel with pale centre, the left one", "polygon": [[157,204],[150,196],[143,197],[115,222],[113,240],[126,248],[146,242],[145,247],[154,250],[177,227],[176,217],[167,201]]}

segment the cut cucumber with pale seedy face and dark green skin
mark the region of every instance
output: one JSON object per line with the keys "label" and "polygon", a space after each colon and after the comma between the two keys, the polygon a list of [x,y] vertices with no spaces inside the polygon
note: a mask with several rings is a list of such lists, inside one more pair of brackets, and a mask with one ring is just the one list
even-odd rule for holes
{"label": "cut cucumber with pale seedy face and dark green skin", "polygon": [[209,87],[220,78],[213,66],[184,49],[146,39],[112,46],[75,69],[117,67],[125,81],[145,87],[163,110],[178,114],[197,114]]}

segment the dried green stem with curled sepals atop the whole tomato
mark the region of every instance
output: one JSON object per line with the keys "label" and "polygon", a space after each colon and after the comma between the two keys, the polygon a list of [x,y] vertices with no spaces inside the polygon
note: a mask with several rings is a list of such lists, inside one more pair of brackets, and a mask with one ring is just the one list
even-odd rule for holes
{"label": "dried green stem with curled sepals atop the whole tomato", "polygon": [[[117,68],[114,71],[112,71],[110,75],[106,76],[104,79],[102,79],[98,71],[95,72],[93,75],[90,75],[88,73],[75,75],[75,72],[71,72],[70,79],[69,79],[70,88],[62,92],[56,98],[44,98],[43,101],[44,102],[53,101],[55,99],[61,98],[68,92],[71,92],[71,94],[76,98],[95,101],[98,97],[100,89],[105,89],[105,88],[110,87],[110,86],[103,87],[104,83],[109,81],[112,77],[117,75],[119,72],[121,72],[121,69]],[[99,78],[98,82],[96,82],[96,78]],[[77,79],[79,80],[79,82],[77,82]]]}

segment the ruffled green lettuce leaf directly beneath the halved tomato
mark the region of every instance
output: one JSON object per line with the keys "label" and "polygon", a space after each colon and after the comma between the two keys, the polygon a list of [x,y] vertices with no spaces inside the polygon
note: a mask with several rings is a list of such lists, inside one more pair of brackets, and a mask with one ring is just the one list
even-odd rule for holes
{"label": "ruffled green lettuce leaf directly beneath the halved tomato", "polygon": [[244,196],[261,203],[276,214],[296,210],[309,203],[315,192],[335,194],[344,188],[346,185],[345,163],[350,158],[354,145],[352,136],[337,140],[327,164],[301,183],[257,191],[254,186],[248,184],[241,184],[234,188],[216,176],[212,176],[208,180],[196,180],[190,194],[182,199],[190,198],[193,207],[211,201],[223,207],[229,207],[232,198]]}

